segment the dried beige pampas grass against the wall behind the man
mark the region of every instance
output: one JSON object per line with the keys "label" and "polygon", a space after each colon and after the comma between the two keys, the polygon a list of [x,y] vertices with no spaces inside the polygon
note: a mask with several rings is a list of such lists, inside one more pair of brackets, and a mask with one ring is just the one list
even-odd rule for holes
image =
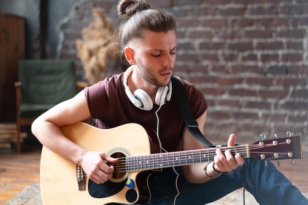
{"label": "dried beige pampas grass against the wall behind the man", "polygon": [[108,59],[119,59],[111,19],[99,8],[92,8],[94,21],[82,30],[76,40],[78,58],[82,61],[89,85],[104,79]]}

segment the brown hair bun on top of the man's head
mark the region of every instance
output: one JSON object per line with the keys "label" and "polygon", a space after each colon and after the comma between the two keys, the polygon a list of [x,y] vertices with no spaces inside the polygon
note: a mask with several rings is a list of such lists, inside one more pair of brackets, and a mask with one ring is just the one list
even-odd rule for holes
{"label": "brown hair bun on top of the man's head", "polygon": [[151,9],[151,6],[145,0],[120,0],[118,3],[119,17],[125,17],[126,20],[138,11]]}

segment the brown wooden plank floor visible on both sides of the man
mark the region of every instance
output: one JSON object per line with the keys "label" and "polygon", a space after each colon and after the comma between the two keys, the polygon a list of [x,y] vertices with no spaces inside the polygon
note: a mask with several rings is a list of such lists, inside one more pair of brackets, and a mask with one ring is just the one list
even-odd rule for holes
{"label": "brown wooden plank floor visible on both sides of the man", "polygon": [[[4,205],[27,185],[39,183],[41,145],[34,143],[23,147],[21,154],[0,152],[0,205]],[[300,191],[308,193],[308,152],[304,153],[303,159],[295,161],[295,166],[291,165],[290,160],[284,160],[277,168]]]}

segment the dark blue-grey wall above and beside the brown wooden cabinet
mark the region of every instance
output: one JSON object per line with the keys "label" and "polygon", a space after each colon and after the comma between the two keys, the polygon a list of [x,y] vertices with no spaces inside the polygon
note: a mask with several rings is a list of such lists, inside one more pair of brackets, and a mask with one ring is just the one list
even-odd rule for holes
{"label": "dark blue-grey wall above and beside the brown wooden cabinet", "polygon": [[26,58],[58,58],[59,25],[85,0],[0,0],[0,12],[26,19]]}

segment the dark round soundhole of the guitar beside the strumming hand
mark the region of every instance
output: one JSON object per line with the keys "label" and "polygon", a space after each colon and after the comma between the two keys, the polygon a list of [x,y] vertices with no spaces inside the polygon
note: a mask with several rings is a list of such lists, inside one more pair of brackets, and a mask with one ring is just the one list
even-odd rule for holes
{"label": "dark round soundhole of the guitar beside the strumming hand", "polygon": [[115,152],[110,155],[113,158],[118,158],[119,161],[115,164],[108,164],[108,165],[113,165],[115,168],[115,171],[113,172],[112,178],[110,179],[111,181],[114,182],[119,182],[123,181],[124,179],[127,178],[127,172],[125,171],[126,164],[125,164],[125,154],[122,152]]}

